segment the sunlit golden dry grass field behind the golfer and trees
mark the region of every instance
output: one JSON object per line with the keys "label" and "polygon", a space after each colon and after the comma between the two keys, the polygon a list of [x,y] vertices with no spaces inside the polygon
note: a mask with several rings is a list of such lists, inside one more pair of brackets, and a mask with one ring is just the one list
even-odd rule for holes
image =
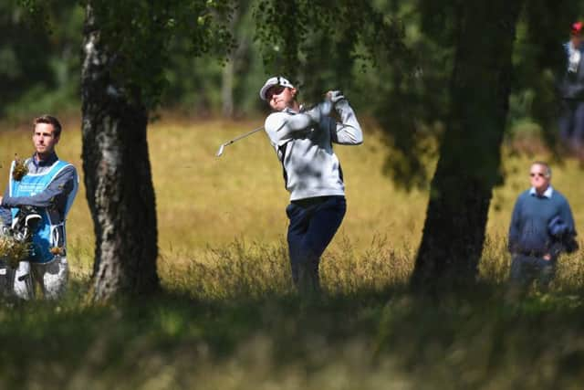
{"label": "sunlit golden dry grass field behind the golfer and trees", "polygon": [[[159,268],[167,285],[187,288],[190,283],[200,294],[216,298],[241,289],[250,293],[289,289],[284,244],[288,195],[266,135],[256,133],[225,148],[221,158],[214,155],[219,144],[261,122],[174,119],[151,124],[148,136],[159,224]],[[77,121],[68,121],[57,153],[78,167],[82,182],[78,126]],[[530,156],[504,153],[506,182],[495,189],[489,212],[489,238],[481,262],[484,279],[506,279],[509,218],[516,196],[527,188],[529,163],[547,159],[539,151]],[[363,145],[338,146],[336,152],[345,174],[348,212],[323,258],[324,284],[330,290],[353,291],[403,282],[421,238],[428,192],[401,190],[381,173],[391,149],[374,128],[365,128]],[[21,157],[32,153],[27,125],[0,127],[0,177],[6,180],[15,153]],[[553,184],[567,195],[579,231],[584,223],[583,178],[584,171],[575,162],[553,166]],[[89,275],[93,246],[93,227],[81,185],[68,218],[69,258],[75,274]],[[580,263],[579,255],[564,258],[558,279],[571,287],[581,286]],[[251,279],[244,283],[246,287],[233,286],[242,267],[249,269],[241,278]]]}

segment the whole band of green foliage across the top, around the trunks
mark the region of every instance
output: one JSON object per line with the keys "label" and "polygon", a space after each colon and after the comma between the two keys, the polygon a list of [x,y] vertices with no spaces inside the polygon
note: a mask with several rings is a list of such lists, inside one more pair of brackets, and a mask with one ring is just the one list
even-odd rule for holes
{"label": "whole band of green foliage across the top, around the trunks", "polygon": [[[449,107],[458,2],[104,1],[95,6],[107,21],[103,34],[115,38],[112,47],[133,58],[120,57],[119,79],[130,90],[141,87],[149,106],[219,112],[224,68],[217,58],[235,66],[237,114],[265,111],[258,87],[267,76],[287,74],[308,103],[326,90],[344,90],[358,115],[373,116],[396,148],[385,172],[406,188],[427,184],[424,159],[436,153],[427,145],[440,140]],[[0,80],[8,86],[0,97],[0,116],[76,110],[84,18],[78,1],[9,0],[0,7],[6,37]],[[234,23],[235,12],[241,15]],[[583,14],[577,2],[542,0],[525,7],[514,53],[510,129],[536,121],[553,144],[559,48],[569,23]]]}

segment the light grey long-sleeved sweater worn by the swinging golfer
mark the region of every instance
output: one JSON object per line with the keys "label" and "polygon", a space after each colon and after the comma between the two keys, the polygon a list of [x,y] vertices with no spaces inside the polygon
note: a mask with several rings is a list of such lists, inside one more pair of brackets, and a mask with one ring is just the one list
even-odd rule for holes
{"label": "light grey long-sleeved sweater worn by the swinging golfer", "polygon": [[310,111],[273,112],[265,130],[284,168],[290,200],[345,195],[339,159],[332,143],[358,145],[363,133],[347,100],[335,104],[340,121],[323,114],[323,103]]}

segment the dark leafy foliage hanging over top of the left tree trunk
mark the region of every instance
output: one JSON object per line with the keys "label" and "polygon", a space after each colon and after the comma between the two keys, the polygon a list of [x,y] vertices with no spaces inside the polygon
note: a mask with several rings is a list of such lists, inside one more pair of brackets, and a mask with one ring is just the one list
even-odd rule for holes
{"label": "dark leafy foliage hanging over top of the left tree trunk", "polygon": [[[86,1],[92,27],[114,58],[112,76],[127,97],[148,109],[161,102],[167,87],[165,69],[170,61],[172,39],[188,39],[189,52],[199,56],[228,52],[233,42],[221,17],[228,17],[228,1]],[[215,17],[216,16],[216,17]]]}

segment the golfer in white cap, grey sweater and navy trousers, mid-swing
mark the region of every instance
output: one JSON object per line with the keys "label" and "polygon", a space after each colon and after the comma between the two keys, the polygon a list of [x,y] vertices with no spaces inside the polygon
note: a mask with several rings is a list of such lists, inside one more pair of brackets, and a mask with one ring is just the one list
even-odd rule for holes
{"label": "golfer in white cap, grey sweater and navy trousers, mid-swing", "polygon": [[[286,213],[292,279],[301,294],[318,293],[318,263],[335,236],[347,209],[345,185],[332,143],[363,142],[359,121],[339,90],[305,110],[297,102],[297,89],[283,77],[273,77],[259,91],[274,112],[265,130],[282,163],[290,193]],[[340,121],[329,116],[332,108]]]}

